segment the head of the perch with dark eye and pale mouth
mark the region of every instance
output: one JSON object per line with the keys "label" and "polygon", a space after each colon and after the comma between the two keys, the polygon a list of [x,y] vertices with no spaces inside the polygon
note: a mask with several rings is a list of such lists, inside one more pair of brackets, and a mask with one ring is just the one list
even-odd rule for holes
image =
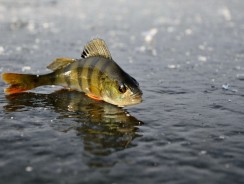
{"label": "head of the perch with dark eye and pale mouth", "polygon": [[108,80],[104,85],[103,100],[119,107],[142,102],[139,83],[131,76]]}

